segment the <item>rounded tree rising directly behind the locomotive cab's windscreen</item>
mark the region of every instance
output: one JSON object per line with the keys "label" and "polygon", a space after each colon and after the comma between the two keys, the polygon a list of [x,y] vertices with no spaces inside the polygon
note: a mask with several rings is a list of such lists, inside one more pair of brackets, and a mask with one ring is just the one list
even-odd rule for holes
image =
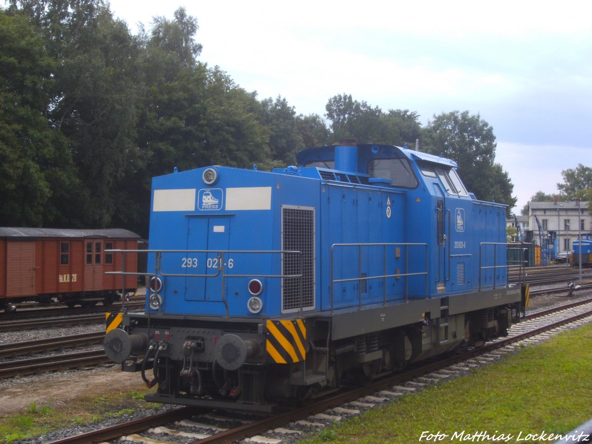
{"label": "rounded tree rising directly behind the locomotive cab's windscreen", "polygon": [[480,200],[506,204],[509,211],[517,198],[509,176],[495,163],[496,146],[493,128],[468,111],[434,115],[423,130],[424,150],[455,160],[469,191]]}

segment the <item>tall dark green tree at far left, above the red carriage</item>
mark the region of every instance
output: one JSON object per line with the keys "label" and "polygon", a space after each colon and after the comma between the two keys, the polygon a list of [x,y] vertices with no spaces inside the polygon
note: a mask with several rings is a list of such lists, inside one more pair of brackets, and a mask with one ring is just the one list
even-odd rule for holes
{"label": "tall dark green tree at far left, above the red carriage", "polygon": [[75,184],[72,159],[46,116],[53,60],[20,15],[0,10],[0,224],[41,226]]}

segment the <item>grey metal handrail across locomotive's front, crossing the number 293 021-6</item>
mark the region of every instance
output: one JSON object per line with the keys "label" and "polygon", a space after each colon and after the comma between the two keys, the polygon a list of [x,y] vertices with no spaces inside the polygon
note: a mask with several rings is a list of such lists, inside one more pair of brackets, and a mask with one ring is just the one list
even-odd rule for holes
{"label": "grey metal handrail across locomotive's front, crossing the number 293 021-6", "polygon": [[[142,272],[126,272],[125,268],[122,269],[122,271],[112,271],[112,272],[107,272],[106,274],[111,274],[111,275],[120,275],[122,281],[125,281],[125,276],[127,275],[133,275],[133,276],[145,276],[146,278],[158,278],[159,276],[163,276],[163,277],[182,277],[182,278],[217,278],[218,276],[221,277],[221,297],[222,300],[221,301],[211,301],[214,303],[218,303],[221,302],[224,304],[224,307],[226,309],[226,317],[229,317],[229,307],[228,307],[228,302],[226,300],[226,279],[229,278],[279,278],[279,279],[298,279],[298,285],[300,288],[300,291],[298,291],[298,294],[300,295],[300,301],[299,301],[299,310],[302,313],[303,311],[303,292],[302,290],[302,281],[303,281],[303,253],[297,250],[105,250],[106,252],[110,252],[110,253],[120,253],[122,255],[125,256],[126,253],[152,253],[154,255],[155,258],[155,264],[154,264],[154,272],[146,272],[146,273],[142,273]],[[177,254],[177,253],[182,253],[184,255],[199,255],[199,254],[204,254],[204,255],[215,255],[215,260],[212,261],[212,263],[215,263],[215,265],[212,267],[216,270],[215,274],[190,274],[190,273],[167,273],[165,271],[163,271],[162,269],[162,256],[163,254]],[[298,262],[298,269],[297,271],[299,271],[299,273],[297,274],[230,274],[227,273],[227,269],[231,269],[233,268],[233,262],[231,262],[233,259],[229,259],[228,261],[226,260],[227,255],[236,255],[236,254],[254,254],[254,255],[281,255],[281,263],[284,263],[285,260],[285,255],[296,255],[298,256],[300,259],[297,261]],[[213,259],[213,258],[207,258],[207,260],[209,259]],[[122,261],[125,265],[125,260]],[[195,267],[189,267],[189,268],[195,268]],[[207,269],[207,268],[206,268]],[[147,289],[150,288],[149,285],[146,286]],[[160,288],[158,286],[156,286],[155,288],[150,288],[150,291],[153,292],[152,295],[149,296],[149,301],[153,301],[155,302],[155,305],[157,305],[157,310],[161,311],[161,307],[162,304],[159,303],[160,301],[160,295],[159,295],[159,291]],[[122,300],[122,306],[121,306],[121,310],[123,311],[123,313],[126,313],[126,311],[124,311],[126,309],[125,307],[125,300]]]}

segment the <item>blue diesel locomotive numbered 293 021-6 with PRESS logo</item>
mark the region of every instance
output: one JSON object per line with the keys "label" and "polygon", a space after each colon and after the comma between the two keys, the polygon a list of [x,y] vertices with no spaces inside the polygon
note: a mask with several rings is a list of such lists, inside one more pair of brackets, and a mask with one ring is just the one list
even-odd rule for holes
{"label": "blue diesel locomotive numbered 293 021-6 with PRESS logo", "polygon": [[519,317],[505,207],[455,162],[352,142],[297,159],[153,179],[146,310],[104,342],[147,400],[273,411]]}

